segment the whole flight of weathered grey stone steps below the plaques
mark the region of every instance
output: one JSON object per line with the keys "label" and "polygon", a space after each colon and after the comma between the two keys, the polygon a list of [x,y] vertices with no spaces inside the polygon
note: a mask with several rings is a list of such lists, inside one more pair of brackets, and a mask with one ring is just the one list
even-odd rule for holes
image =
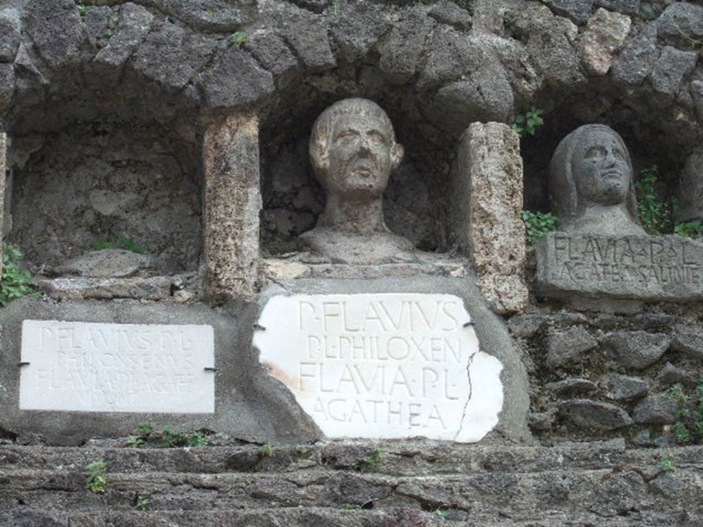
{"label": "whole flight of weathered grey stone steps below the plaques", "polygon": [[[108,462],[106,492],[100,494],[86,490],[85,466],[96,460]],[[0,525],[21,527],[64,526],[69,517],[76,518],[71,527],[430,526],[446,519],[533,527],[699,527],[702,495],[702,447],[628,450],[621,441],[559,447],[344,441],[281,447],[269,455],[252,445],[0,447]],[[162,514],[154,523],[135,510],[145,499],[149,514]],[[373,507],[363,511],[368,521],[361,511],[344,510],[362,505]],[[401,509],[420,514],[420,523],[399,523],[394,514]],[[432,516],[438,509],[441,516]],[[124,516],[125,523],[89,523],[106,511]],[[183,511],[207,519],[179,523],[176,513]],[[319,522],[304,523],[313,516],[300,511],[320,514]],[[15,520],[25,512],[58,516],[54,523]],[[226,514],[234,515],[221,523]],[[139,517],[149,523],[138,523]],[[269,519],[237,523],[252,517]],[[361,517],[363,523],[349,519]]]}

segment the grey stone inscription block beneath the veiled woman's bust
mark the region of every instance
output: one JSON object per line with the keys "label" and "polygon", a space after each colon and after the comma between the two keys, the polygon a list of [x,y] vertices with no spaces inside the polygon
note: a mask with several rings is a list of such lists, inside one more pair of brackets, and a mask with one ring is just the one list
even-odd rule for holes
{"label": "grey stone inscription block beneath the veiled woman's bust", "polygon": [[703,243],[678,236],[550,233],[537,245],[543,294],[574,293],[651,299],[703,299]]}

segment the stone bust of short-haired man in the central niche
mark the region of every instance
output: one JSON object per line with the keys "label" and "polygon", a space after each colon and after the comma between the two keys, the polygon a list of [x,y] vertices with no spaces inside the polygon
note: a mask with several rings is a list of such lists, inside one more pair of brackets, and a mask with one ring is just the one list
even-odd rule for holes
{"label": "stone bust of short-haired man in the central niche", "polygon": [[403,159],[386,112],[371,100],[340,100],[313,125],[310,160],[327,194],[314,229],[300,238],[340,263],[385,263],[411,258],[413,245],[383,221],[382,197]]}

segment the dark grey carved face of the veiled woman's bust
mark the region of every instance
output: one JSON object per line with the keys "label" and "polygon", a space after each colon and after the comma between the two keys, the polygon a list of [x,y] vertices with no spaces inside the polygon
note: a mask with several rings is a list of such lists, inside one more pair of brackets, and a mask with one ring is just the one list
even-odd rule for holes
{"label": "dark grey carved face of the veiled woman's bust", "polygon": [[591,131],[574,151],[572,174],[579,202],[616,205],[624,203],[632,173],[627,152],[607,131]]}

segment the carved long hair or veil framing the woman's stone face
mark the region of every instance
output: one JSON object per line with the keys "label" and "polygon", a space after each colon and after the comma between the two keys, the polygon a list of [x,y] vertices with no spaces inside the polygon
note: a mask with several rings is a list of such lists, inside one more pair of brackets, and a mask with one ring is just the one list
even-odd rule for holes
{"label": "carved long hair or veil framing the woman's stone face", "polygon": [[572,174],[574,152],[576,152],[576,148],[581,145],[584,138],[598,133],[613,136],[624,152],[625,160],[630,170],[630,186],[626,197],[626,210],[630,219],[636,225],[640,224],[637,214],[632,161],[630,160],[630,153],[627,150],[625,141],[610,126],[605,126],[605,124],[584,124],[562,139],[554,151],[552,161],[549,164],[549,197],[552,204],[552,212],[557,216],[560,228],[572,223],[579,216],[579,193]]}

